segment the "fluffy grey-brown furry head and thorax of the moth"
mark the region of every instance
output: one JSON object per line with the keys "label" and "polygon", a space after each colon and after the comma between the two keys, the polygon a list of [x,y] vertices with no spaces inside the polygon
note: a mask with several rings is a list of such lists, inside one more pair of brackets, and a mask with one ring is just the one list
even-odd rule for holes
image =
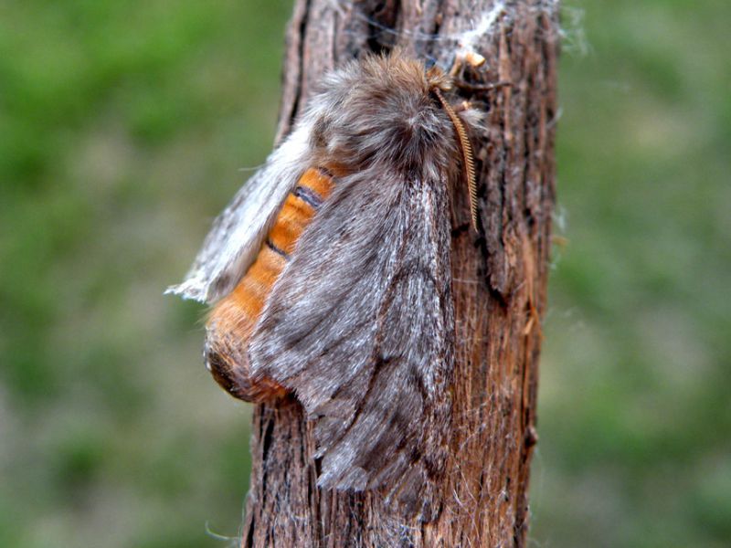
{"label": "fluffy grey-brown furry head and thorax of the moth", "polygon": [[313,98],[317,161],[345,172],[380,164],[418,176],[458,153],[452,121],[433,91],[450,78],[399,54],[371,56],[331,72]]}

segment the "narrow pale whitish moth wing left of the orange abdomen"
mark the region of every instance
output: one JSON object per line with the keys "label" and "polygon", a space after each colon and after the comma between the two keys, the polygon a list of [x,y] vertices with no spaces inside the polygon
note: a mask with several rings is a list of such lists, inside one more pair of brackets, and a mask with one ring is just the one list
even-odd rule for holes
{"label": "narrow pale whitish moth wing left of the orange abdomen", "polygon": [[215,302],[234,289],[259,252],[279,206],[309,159],[310,128],[301,123],[217,216],[182,283],[165,293]]}

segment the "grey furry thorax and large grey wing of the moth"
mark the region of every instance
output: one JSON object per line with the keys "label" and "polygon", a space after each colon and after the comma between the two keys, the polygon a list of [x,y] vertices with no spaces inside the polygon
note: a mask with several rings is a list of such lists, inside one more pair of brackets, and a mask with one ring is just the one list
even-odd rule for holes
{"label": "grey furry thorax and large grey wing of the moth", "polygon": [[351,65],[315,156],[337,181],[274,285],[251,336],[255,378],[291,389],[316,421],[319,485],[382,488],[423,520],[450,434],[452,123],[417,63]]}

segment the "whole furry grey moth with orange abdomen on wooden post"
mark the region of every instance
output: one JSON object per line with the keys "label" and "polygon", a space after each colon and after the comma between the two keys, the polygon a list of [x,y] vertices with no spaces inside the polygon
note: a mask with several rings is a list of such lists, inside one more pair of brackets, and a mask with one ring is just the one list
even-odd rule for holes
{"label": "whole furry grey moth with orange abdomen on wooden post", "polygon": [[231,395],[299,399],[319,487],[382,490],[423,521],[450,441],[452,185],[476,223],[450,90],[398,52],[327,74],[168,290],[213,305],[205,359]]}

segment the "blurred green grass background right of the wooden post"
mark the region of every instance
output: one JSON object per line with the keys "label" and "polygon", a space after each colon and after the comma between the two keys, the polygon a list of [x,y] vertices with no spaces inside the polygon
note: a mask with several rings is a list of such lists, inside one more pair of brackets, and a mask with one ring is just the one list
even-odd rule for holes
{"label": "blurred green grass background right of the wooden post", "polygon": [[561,62],[531,538],[726,546],[731,6],[565,8],[588,53]]}

